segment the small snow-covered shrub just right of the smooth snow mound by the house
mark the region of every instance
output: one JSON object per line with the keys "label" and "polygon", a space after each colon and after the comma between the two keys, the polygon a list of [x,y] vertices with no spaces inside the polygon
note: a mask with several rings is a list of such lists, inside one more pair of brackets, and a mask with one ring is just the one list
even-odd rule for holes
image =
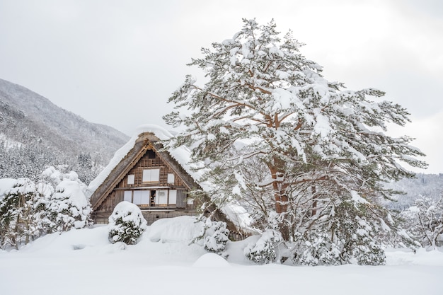
{"label": "small snow-covered shrub just right of the smooth snow mound by the house", "polygon": [[226,250],[226,243],[229,241],[229,230],[226,229],[226,222],[210,221],[205,223],[205,240],[203,245],[209,252],[217,254]]}

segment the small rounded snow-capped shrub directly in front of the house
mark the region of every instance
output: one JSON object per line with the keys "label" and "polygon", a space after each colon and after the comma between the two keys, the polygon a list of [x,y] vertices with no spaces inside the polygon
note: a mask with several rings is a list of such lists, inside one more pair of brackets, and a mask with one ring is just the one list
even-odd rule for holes
{"label": "small rounded snow-capped shrub directly in front of the house", "polygon": [[120,202],[109,216],[109,241],[134,245],[146,230],[146,225],[147,222],[137,205],[127,201]]}

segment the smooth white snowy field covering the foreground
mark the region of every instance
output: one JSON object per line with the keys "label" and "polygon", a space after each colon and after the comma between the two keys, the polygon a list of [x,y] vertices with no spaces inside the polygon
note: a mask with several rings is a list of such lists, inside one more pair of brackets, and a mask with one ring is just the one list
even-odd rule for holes
{"label": "smooth white snowy field covering the foreground", "polygon": [[253,265],[248,241],[229,243],[228,261],[188,245],[197,227],[157,221],[137,245],[111,245],[107,226],[39,238],[0,250],[0,294],[443,294],[443,253],[389,250],[387,265]]}

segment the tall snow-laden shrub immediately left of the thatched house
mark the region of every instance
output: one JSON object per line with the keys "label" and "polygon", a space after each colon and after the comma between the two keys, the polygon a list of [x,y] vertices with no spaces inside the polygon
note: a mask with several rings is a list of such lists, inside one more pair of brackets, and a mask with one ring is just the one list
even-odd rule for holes
{"label": "tall snow-laden shrub immediately left of the thatched house", "polygon": [[49,176],[57,186],[47,204],[48,231],[69,231],[73,227],[81,229],[90,226],[92,209],[85,195],[86,185],[74,171],[59,173],[53,167],[45,170],[45,173],[51,172]]}

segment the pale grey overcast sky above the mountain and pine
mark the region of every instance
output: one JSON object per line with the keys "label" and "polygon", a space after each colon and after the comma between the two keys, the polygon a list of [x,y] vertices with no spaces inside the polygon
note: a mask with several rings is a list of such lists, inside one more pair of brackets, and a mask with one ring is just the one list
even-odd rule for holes
{"label": "pale grey overcast sky above the mountain and pine", "polygon": [[267,23],[306,46],[329,81],[374,87],[408,108],[425,173],[443,173],[443,1],[0,0],[0,79],[30,88],[86,120],[132,135],[167,127],[166,100],[201,47]]}

